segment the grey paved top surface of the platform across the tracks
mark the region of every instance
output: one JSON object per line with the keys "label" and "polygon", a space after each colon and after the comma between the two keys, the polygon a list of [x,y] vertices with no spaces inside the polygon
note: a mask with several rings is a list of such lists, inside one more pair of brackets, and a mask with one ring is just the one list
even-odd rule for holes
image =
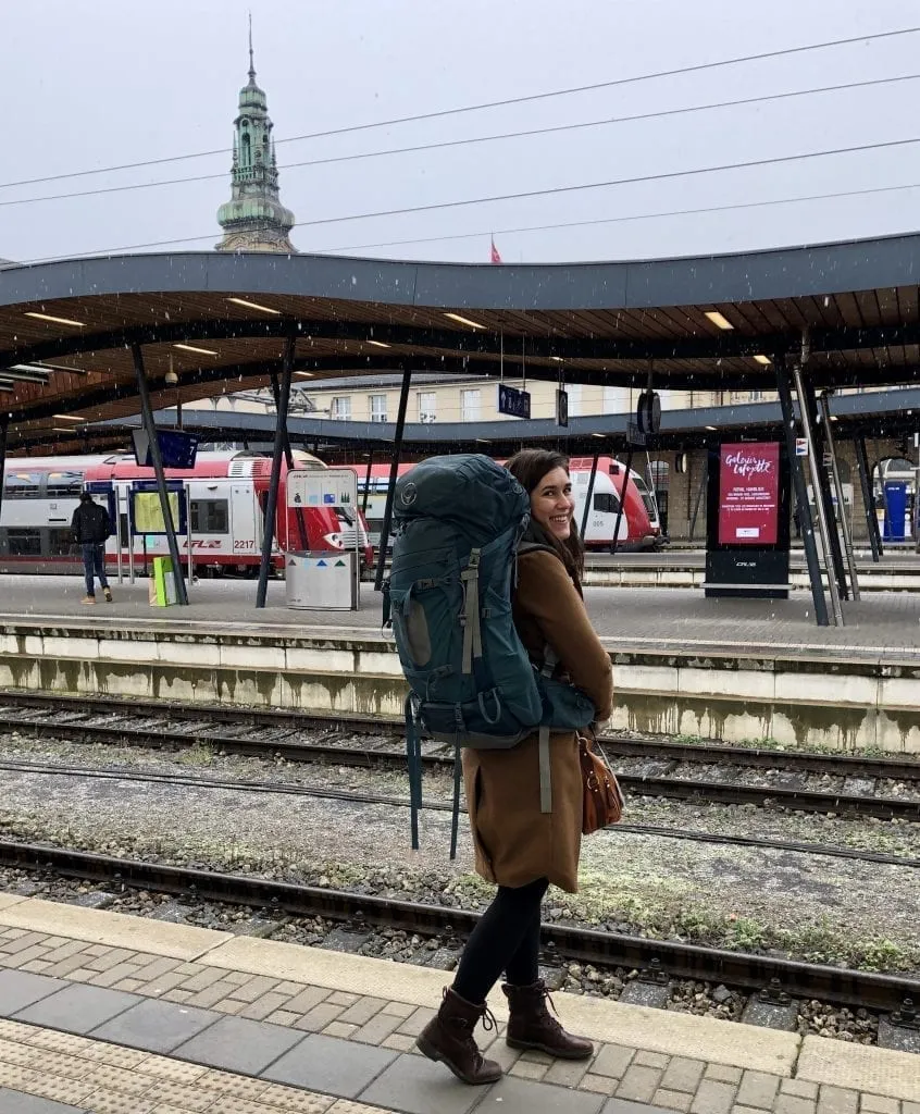
{"label": "grey paved top surface of the platform across the tracks", "polygon": [[[115,602],[84,605],[76,577],[0,578],[0,624],[31,620],[95,627],[129,626],[196,632],[239,632],[257,627],[278,636],[331,631],[380,635],[381,598],[362,588],[359,612],[293,610],[284,584],[268,585],[268,606],[255,608],[255,584],[203,580],[192,587],[188,607],[151,607],[147,582],[114,585]],[[587,588],[585,599],[598,633],[611,648],[699,652],[744,649],[776,653],[833,653],[913,658],[920,654],[920,598],[909,593],[867,594],[844,604],[846,626],[819,627],[811,596],[787,600],[707,599],[681,588]],[[382,635],[381,635],[382,637]]]}

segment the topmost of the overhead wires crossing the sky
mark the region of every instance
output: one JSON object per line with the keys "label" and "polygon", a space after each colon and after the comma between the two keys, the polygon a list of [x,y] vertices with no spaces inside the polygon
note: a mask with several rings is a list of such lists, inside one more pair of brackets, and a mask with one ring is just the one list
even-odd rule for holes
{"label": "topmost of the overhead wires crossing the sky", "polygon": [[[302,143],[309,139],[324,139],[331,136],[351,135],[356,131],[369,131],[374,128],[395,127],[401,124],[414,124],[422,120],[442,119],[448,116],[460,116],[467,113],[486,111],[495,108],[506,108],[512,105],[532,104],[540,100],[549,100],[556,97],[574,96],[581,92],[595,92],[600,89],[613,89],[626,85],[636,85],[642,81],[653,81],[668,77],[679,77],[686,74],[699,74],[706,70],[720,69],[726,66],[737,66],[745,62],[764,61],[769,58],[782,58],[790,55],[804,53],[811,50],[828,50],[834,47],[851,46],[857,42],[873,42],[882,39],[898,38],[904,35],[917,35],[920,27],[904,27],[890,31],[877,31],[869,35],[857,35],[841,39],[830,39],[824,42],[802,43],[796,47],[782,47],[776,50],[764,50],[753,55],[741,55],[734,58],[718,59],[712,62],[697,62],[693,66],[674,67],[666,70],[655,70],[649,74],[638,74],[633,77],[616,78],[610,81],[597,81],[591,85],[575,86],[568,89],[554,89],[546,92],[526,94],[520,97],[507,97],[500,100],[481,101],[474,105],[463,105],[457,108],[442,108],[430,113],[417,113],[411,116],[391,117],[384,120],[374,120],[365,124],[352,124],[341,128],[327,128],[322,131],[310,131],[298,136],[287,136],[275,139],[275,145],[286,143]],[[45,182],[60,182],[67,178],[81,178],[96,174],[114,174],[119,170],[133,170],[146,166],[163,166],[167,163],[180,163],[194,158],[209,158],[215,155],[229,154],[229,147],[218,147],[213,150],[193,152],[185,155],[169,155],[163,158],[144,159],[136,163],[121,163],[112,166],[102,166],[85,170],[70,170],[67,173],[45,175],[35,178],[21,178],[18,182],[0,183],[0,189],[12,189],[18,186],[39,185]]]}

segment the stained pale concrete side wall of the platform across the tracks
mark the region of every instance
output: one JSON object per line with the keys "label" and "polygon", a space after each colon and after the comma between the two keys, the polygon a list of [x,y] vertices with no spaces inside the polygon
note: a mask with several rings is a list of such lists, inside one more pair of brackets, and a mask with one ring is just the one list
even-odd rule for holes
{"label": "stained pale concrete side wall of the platform across the tracks", "polygon": [[[920,752],[920,666],[832,654],[624,651],[611,646],[611,729],[840,751]],[[0,627],[0,688],[104,693],[397,719],[392,642],[36,624]]]}

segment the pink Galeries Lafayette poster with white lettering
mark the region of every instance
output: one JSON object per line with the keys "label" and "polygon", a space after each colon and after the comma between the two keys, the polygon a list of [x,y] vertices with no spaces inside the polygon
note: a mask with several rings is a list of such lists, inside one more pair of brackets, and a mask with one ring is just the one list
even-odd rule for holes
{"label": "pink Galeries Lafayette poster with white lettering", "polygon": [[780,519],[780,444],[720,446],[718,544],[773,546]]}

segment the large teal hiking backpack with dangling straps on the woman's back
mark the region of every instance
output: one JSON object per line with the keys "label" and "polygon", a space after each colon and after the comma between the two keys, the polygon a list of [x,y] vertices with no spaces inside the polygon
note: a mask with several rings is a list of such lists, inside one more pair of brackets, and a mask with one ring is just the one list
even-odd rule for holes
{"label": "large teal hiking backpack with dangling straps on the woman's back", "polygon": [[[515,628],[517,555],[530,499],[489,457],[432,457],[397,483],[393,563],[384,584],[403,674],[412,848],[422,807],[421,732],[457,747],[450,857],[457,854],[460,747],[507,750],[539,730],[540,809],[552,811],[550,729],[585,727],[591,702],[556,681],[547,647],[532,663]],[[551,550],[550,550],[551,551]]]}

